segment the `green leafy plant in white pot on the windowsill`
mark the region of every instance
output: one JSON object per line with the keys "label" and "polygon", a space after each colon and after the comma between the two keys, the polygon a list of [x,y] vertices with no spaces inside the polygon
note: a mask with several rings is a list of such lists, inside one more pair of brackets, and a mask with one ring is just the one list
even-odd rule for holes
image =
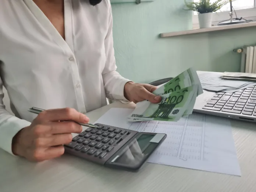
{"label": "green leafy plant in white pot on the windowsill", "polygon": [[211,3],[210,0],[199,0],[198,2],[189,2],[185,1],[186,7],[188,9],[196,11],[198,13],[199,27],[200,28],[209,28],[211,27],[212,13],[218,11],[225,4],[230,3],[233,0],[216,0]]}

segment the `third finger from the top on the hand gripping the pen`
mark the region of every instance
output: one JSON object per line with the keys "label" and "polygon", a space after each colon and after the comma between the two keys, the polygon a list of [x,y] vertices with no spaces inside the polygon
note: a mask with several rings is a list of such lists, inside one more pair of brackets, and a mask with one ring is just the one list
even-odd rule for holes
{"label": "third finger from the top on the hand gripping the pen", "polygon": [[57,134],[49,137],[38,138],[36,141],[36,147],[52,147],[57,145],[68,144],[72,141],[71,134]]}

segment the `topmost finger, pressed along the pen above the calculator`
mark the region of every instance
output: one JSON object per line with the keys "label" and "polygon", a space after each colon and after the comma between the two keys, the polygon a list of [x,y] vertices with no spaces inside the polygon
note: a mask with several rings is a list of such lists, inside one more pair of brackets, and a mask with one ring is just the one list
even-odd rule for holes
{"label": "topmost finger, pressed along the pen above the calculator", "polygon": [[88,123],[89,118],[79,113],[77,110],[72,108],[63,108],[63,109],[50,109],[45,110],[39,113],[36,117],[39,121],[76,121],[80,123]]}

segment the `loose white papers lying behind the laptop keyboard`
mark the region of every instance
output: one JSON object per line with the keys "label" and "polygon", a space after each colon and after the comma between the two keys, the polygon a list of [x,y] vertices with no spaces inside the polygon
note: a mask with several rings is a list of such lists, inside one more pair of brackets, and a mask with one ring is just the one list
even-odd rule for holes
{"label": "loose white papers lying behind the laptop keyboard", "polygon": [[198,77],[202,88],[213,92],[234,93],[256,85],[255,81],[221,78],[221,74],[214,72],[200,72]]}

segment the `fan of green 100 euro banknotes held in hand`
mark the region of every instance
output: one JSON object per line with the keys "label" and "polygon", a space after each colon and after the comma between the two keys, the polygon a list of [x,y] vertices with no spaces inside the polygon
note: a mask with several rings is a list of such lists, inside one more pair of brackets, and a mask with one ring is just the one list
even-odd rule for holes
{"label": "fan of green 100 euro banknotes held in hand", "polygon": [[196,97],[203,93],[203,89],[196,71],[189,68],[153,93],[162,97],[161,102],[153,104],[145,100],[137,103],[127,121],[178,121],[192,114]]}

